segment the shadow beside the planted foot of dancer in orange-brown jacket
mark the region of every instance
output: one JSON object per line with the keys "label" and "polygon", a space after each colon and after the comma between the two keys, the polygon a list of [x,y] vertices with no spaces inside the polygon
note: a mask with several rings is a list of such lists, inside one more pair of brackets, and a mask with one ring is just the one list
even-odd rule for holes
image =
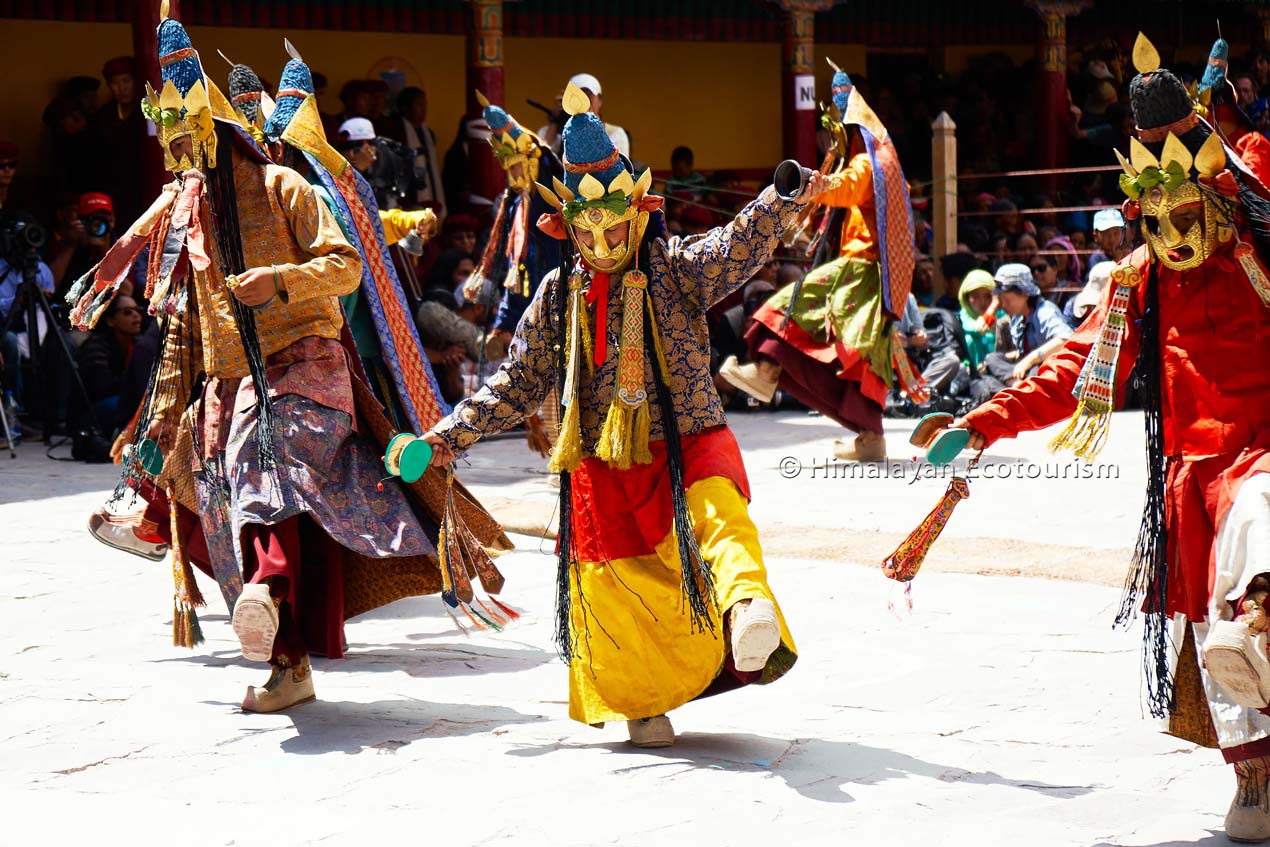
{"label": "shadow beside the planted foot of dancer in orange-brown jacket", "polygon": [[[505,706],[437,704],[424,700],[378,700],[368,704],[318,700],[279,715],[295,735],[286,753],[316,756],[363,750],[392,753],[427,738],[485,735],[503,726],[547,720]],[[287,728],[290,729],[290,728]]]}

